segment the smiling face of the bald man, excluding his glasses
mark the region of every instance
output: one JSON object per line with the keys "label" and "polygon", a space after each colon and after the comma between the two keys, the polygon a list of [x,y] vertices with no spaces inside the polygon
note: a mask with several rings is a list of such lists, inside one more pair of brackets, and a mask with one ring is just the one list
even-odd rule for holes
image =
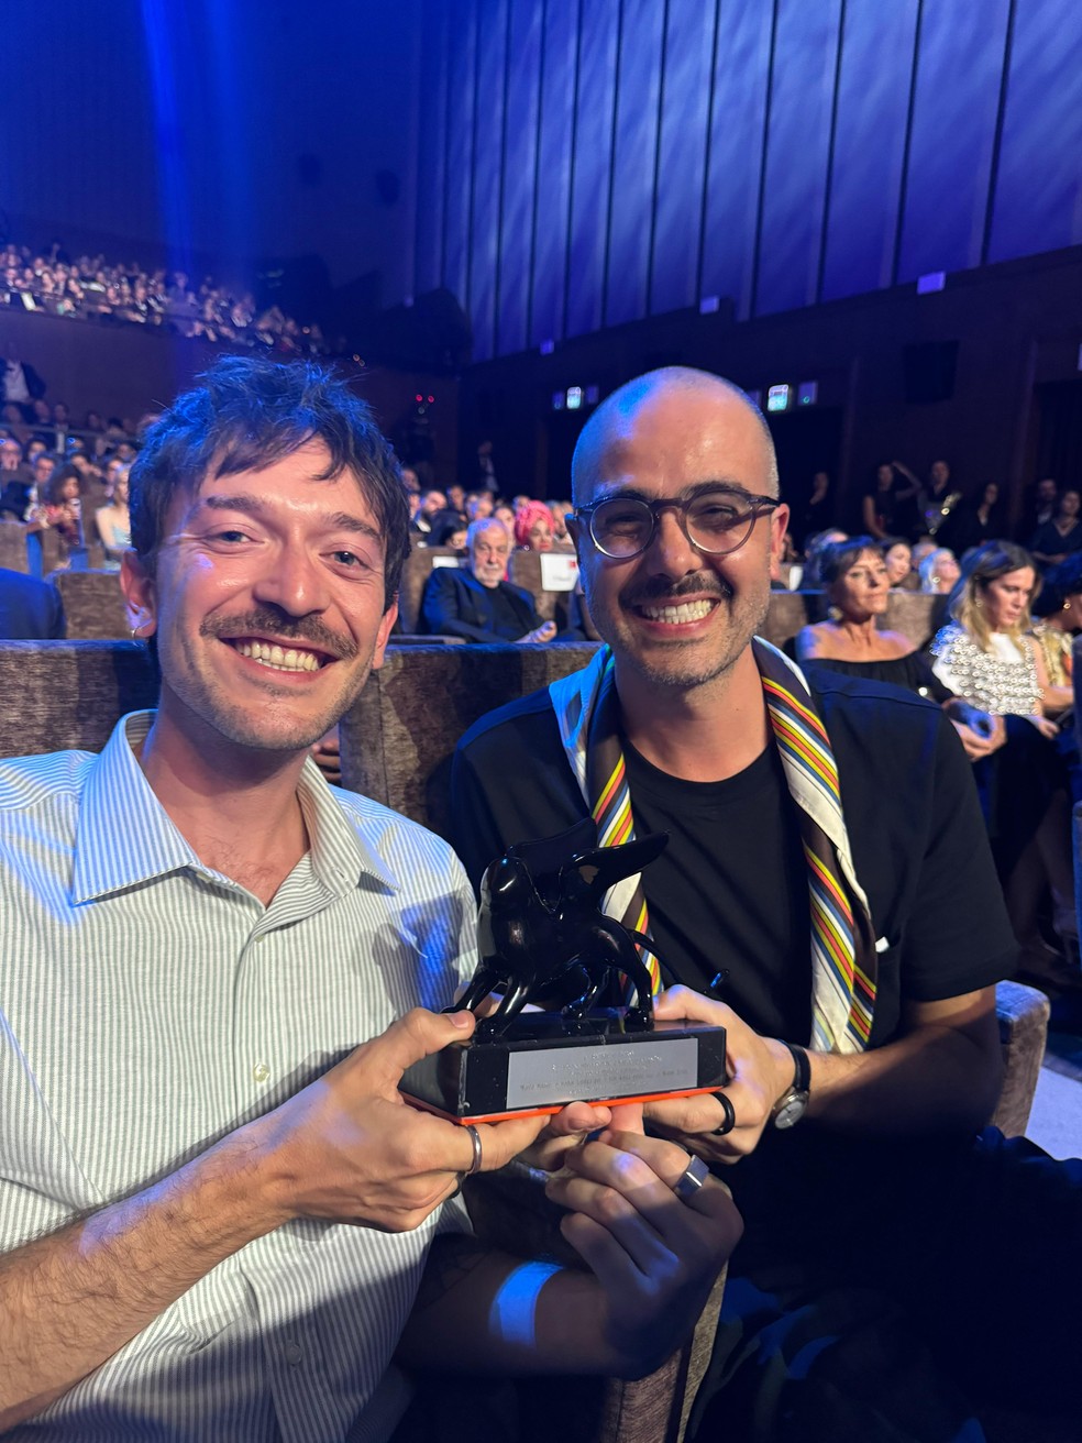
{"label": "smiling face of the bald man, excluding his glasses", "polygon": [[[597,417],[600,420],[600,417]],[[576,456],[576,505],[602,496],[685,499],[731,488],[775,491],[770,455],[750,407],[721,382],[661,381],[607,418],[596,450]],[[780,556],[788,508],[760,515],[729,556],[698,551],[672,509],[662,511],[646,550],[602,556],[577,522],[579,564],[590,616],[616,654],[654,684],[692,688],[724,675],[762,626],[770,560]]]}

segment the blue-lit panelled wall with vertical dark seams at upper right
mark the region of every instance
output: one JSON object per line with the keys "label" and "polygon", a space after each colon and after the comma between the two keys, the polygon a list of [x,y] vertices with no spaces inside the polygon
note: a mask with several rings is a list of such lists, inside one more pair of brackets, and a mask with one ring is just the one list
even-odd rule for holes
{"label": "blue-lit panelled wall with vertical dark seams at upper right", "polygon": [[415,284],[475,359],[1082,242],[1079,0],[430,0]]}

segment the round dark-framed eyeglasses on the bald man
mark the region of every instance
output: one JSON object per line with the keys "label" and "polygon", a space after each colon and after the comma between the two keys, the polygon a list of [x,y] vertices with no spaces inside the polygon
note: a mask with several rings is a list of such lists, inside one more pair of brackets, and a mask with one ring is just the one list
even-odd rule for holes
{"label": "round dark-framed eyeglasses on the bald man", "polygon": [[747,541],[765,511],[773,511],[776,496],[749,496],[744,491],[701,491],[690,501],[643,501],[641,496],[603,496],[577,506],[576,521],[584,522],[590,540],[616,561],[641,556],[654,540],[662,511],[677,512],[679,528],[697,551],[729,556]]}

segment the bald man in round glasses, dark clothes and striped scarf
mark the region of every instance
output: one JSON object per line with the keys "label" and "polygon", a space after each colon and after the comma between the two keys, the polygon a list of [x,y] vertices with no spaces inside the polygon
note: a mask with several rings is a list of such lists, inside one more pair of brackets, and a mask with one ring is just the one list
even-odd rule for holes
{"label": "bald man in round glasses, dark clothes and striped scarf", "polygon": [[[923,700],[811,685],[757,638],[788,511],[736,387],[682,368],[622,387],[583,430],[573,495],[607,645],[463,737],[453,840],[476,885],[590,811],[603,835],[669,834],[607,909],[645,916],[661,1016],[727,1030],[723,1092],[648,1108],[746,1219],[695,1437],[980,1437],[958,1388],[978,1367],[1069,1407],[1078,1323],[1065,1351],[1004,1329],[988,1266],[997,1238],[1032,1242],[1020,1172],[1072,1240],[1079,1177],[1013,1167],[991,1130],[974,1146],[1014,941],[958,739]],[[1078,1254],[1056,1266],[1079,1277]],[[1032,1276],[1011,1309],[1042,1316]]]}

